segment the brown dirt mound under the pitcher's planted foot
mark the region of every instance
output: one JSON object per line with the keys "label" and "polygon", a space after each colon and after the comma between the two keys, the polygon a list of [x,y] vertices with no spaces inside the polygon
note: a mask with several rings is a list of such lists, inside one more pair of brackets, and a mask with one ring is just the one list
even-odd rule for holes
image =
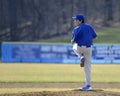
{"label": "brown dirt mound under the pitcher's planted foot", "polygon": [[17,94],[3,94],[0,96],[120,96],[120,93],[105,92],[102,90],[93,91],[43,91],[43,92],[29,92],[29,93],[17,93]]}

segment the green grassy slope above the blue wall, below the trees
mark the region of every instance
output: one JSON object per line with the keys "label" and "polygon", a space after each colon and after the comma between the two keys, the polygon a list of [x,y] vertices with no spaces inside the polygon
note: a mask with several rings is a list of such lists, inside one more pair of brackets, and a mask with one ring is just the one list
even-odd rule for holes
{"label": "green grassy slope above the blue wall, below the trees", "polygon": [[[95,43],[110,43],[110,44],[119,44],[120,43],[120,28],[119,27],[110,27],[97,30],[98,39],[95,40]],[[71,32],[72,33],[72,32]],[[59,36],[56,38],[51,38],[48,40],[43,40],[42,42],[60,42],[60,43],[70,43],[71,33],[67,36]]]}

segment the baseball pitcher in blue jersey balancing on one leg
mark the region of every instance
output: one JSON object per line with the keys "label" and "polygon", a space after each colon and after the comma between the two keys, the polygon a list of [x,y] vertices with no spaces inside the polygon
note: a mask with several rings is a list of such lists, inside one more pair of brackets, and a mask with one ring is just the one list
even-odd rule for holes
{"label": "baseball pitcher in blue jersey balancing on one leg", "polygon": [[85,17],[83,14],[77,14],[73,17],[75,28],[72,33],[71,43],[73,45],[73,51],[80,59],[80,66],[84,67],[86,85],[81,87],[80,90],[92,90],[91,85],[91,56],[93,39],[97,38],[94,28],[85,23]]}

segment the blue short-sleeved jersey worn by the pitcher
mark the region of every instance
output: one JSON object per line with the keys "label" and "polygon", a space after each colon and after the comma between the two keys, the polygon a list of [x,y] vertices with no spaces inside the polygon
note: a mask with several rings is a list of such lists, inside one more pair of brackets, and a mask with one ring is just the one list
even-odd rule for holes
{"label": "blue short-sleeved jersey worn by the pitcher", "polygon": [[72,41],[76,42],[78,46],[91,46],[93,39],[97,37],[95,30],[89,24],[81,24],[74,28],[72,33]]}

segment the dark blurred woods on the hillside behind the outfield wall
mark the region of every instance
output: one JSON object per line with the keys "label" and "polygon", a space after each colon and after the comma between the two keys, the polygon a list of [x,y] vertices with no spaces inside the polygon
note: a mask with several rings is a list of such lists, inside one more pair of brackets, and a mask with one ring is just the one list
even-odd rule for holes
{"label": "dark blurred woods on the hillside behind the outfield wall", "polygon": [[72,17],[78,13],[94,27],[111,27],[115,20],[120,23],[120,0],[0,0],[0,40],[38,41],[71,34]]}

